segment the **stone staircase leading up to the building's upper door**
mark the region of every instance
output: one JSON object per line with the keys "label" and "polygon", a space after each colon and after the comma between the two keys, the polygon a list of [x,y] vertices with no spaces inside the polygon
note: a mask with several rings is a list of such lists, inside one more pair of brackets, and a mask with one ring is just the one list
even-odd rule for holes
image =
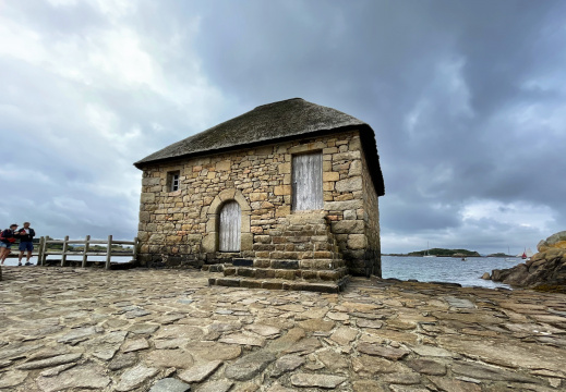
{"label": "stone staircase leading up to the building's upper door", "polygon": [[253,249],[254,259],[208,266],[217,272],[209,284],[336,293],[349,278],[324,212],[279,218],[276,229],[255,236]]}

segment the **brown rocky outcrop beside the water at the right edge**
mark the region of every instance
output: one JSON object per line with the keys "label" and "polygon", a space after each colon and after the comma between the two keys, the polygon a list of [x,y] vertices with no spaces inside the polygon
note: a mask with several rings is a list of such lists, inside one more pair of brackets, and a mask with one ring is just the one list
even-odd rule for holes
{"label": "brown rocky outcrop beside the water at the right edge", "polygon": [[493,270],[491,279],[517,287],[566,291],[566,231],[537,246],[539,253],[513,268]]}

